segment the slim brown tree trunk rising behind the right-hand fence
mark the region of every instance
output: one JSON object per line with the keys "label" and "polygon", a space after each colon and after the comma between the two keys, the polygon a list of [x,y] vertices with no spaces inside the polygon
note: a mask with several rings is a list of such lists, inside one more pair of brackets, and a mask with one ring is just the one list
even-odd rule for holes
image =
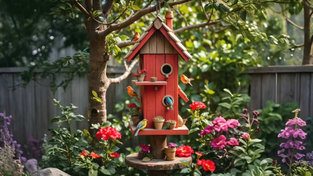
{"label": "slim brown tree trunk rising behind the right-hand fence", "polygon": [[308,6],[307,0],[303,0],[303,11],[304,11],[304,50],[302,65],[312,64],[312,42],[310,41],[310,7]]}

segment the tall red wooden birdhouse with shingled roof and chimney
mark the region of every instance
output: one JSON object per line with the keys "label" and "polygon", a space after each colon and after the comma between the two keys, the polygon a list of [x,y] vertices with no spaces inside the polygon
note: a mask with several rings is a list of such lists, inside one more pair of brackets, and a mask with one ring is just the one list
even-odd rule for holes
{"label": "tall red wooden birdhouse with shingled roof and chimney", "polygon": [[[188,101],[178,86],[178,55],[186,62],[192,56],[172,31],[172,11],[167,11],[165,18],[166,23],[159,15],[156,16],[124,57],[131,61],[139,54],[140,68],[147,70],[143,82],[132,81],[139,85],[141,113],[148,120],[146,128],[138,135],[188,134],[187,127],[178,127],[178,122],[174,130],[154,130],[152,120],[155,116],[163,116],[165,121],[178,121],[178,95]],[[151,82],[150,77],[157,77],[157,81]],[[165,103],[166,96],[172,99],[174,110]],[[132,122],[130,127],[134,134],[136,127]]]}

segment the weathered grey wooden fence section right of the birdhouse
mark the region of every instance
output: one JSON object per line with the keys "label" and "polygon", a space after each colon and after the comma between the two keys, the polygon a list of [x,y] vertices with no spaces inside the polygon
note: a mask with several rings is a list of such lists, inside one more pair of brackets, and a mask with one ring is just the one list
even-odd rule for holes
{"label": "weathered grey wooden fence section right of the birdhouse", "polygon": [[250,109],[266,107],[265,102],[299,104],[299,117],[313,117],[313,65],[249,68]]}

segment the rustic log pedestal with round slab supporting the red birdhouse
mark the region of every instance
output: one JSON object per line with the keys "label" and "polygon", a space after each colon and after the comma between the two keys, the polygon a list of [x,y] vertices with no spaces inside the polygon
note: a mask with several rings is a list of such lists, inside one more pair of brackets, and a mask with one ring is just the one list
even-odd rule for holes
{"label": "rustic log pedestal with round slab supporting the red birdhouse", "polygon": [[166,135],[151,135],[150,149],[153,159],[143,162],[138,158],[138,153],[127,155],[125,163],[127,166],[138,169],[147,169],[148,176],[167,176],[167,170],[179,169],[186,167],[181,160],[192,163],[191,157],[176,157],[174,161],[165,160],[164,147],[167,146]]}

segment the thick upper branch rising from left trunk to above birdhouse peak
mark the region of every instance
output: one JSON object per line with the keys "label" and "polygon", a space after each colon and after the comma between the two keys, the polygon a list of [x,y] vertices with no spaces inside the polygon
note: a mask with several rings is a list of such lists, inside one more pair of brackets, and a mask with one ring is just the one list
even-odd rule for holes
{"label": "thick upper branch rising from left trunk to above birdhouse peak", "polygon": [[[177,4],[187,3],[189,1],[192,1],[192,0],[179,0],[179,1],[172,2],[172,3],[168,3],[168,5],[170,7],[173,7],[173,6],[177,5]],[[164,3],[162,3],[162,6],[163,6],[163,4]],[[110,34],[111,32],[113,32],[115,30],[118,30],[118,29],[121,29],[121,28],[125,28],[125,27],[131,25],[132,23],[134,23],[135,21],[137,21],[138,19],[140,19],[142,16],[144,16],[144,15],[146,15],[148,13],[154,12],[154,11],[156,11],[156,6],[141,9],[134,16],[132,16],[131,18],[129,18],[129,19],[127,19],[127,20],[125,20],[125,21],[123,21],[121,23],[113,24],[110,27],[106,28],[105,30],[103,30],[100,33],[100,35],[106,36],[106,35]]]}

